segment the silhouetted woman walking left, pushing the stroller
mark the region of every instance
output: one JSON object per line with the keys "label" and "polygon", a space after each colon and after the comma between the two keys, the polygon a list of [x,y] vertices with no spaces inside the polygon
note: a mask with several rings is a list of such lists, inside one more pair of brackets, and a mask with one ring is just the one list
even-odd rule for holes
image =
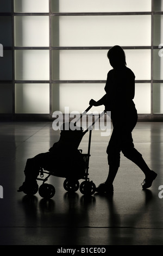
{"label": "silhouetted woman walking left, pushing the stroller", "polygon": [[113,181],[120,167],[120,152],[140,167],[145,174],[142,188],[151,187],[157,174],[150,170],[142,155],[134,148],[131,132],[137,123],[137,111],[133,102],[135,95],[135,75],[126,66],[123,49],[116,45],[108,51],[112,70],[108,72],[105,92],[102,99],[90,100],[90,105],[105,105],[111,111],[112,135],[106,153],[108,154],[109,174],[106,181],[97,187],[97,192],[113,192]]}

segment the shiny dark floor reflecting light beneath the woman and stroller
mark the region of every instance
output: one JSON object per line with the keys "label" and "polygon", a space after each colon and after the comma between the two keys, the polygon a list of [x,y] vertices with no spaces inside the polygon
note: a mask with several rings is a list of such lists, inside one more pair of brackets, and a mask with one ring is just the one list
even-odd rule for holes
{"label": "shiny dark floor reflecting light beneath the woman and stroller", "polygon": [[[83,153],[88,136],[79,147]],[[0,245],[163,245],[163,123],[139,122],[133,138],[158,173],[151,188],[142,190],[143,173],[122,155],[113,196],[85,197],[79,190],[71,194],[63,187],[64,178],[52,176],[49,182],[56,192],[45,200],[39,193],[18,193],[17,188],[24,180],[26,160],[48,151],[59,131],[51,122],[1,122]],[[109,136],[92,131],[89,173],[96,185],[108,174],[108,141]]]}

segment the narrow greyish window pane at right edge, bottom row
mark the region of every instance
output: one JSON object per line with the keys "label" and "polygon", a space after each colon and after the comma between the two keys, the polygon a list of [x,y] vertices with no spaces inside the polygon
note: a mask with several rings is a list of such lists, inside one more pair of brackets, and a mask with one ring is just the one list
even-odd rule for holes
{"label": "narrow greyish window pane at right edge, bottom row", "polygon": [[153,112],[155,114],[163,113],[163,83],[153,84]]}

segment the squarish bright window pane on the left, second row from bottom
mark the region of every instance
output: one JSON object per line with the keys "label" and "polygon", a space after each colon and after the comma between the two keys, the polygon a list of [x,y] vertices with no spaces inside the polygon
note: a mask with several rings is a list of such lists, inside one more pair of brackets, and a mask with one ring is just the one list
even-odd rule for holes
{"label": "squarish bright window pane on the left, second row from bottom", "polygon": [[16,80],[49,80],[49,51],[16,50]]}

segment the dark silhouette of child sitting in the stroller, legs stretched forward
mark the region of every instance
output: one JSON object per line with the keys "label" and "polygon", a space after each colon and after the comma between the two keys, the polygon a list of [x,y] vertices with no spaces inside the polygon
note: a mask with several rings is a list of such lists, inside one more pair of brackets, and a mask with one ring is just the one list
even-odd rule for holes
{"label": "dark silhouette of child sitting in the stroller, legs stretched forward", "polygon": [[[65,129],[66,127],[66,129]],[[86,131],[82,127],[76,130],[70,129],[70,123],[64,123],[60,128],[60,139],[53,144],[53,147],[46,153],[41,153],[31,159],[27,159],[24,169],[25,180],[18,192],[34,194],[37,192],[37,176],[40,169],[51,171],[54,176],[73,177],[82,179],[85,174],[84,154],[78,149]]]}

